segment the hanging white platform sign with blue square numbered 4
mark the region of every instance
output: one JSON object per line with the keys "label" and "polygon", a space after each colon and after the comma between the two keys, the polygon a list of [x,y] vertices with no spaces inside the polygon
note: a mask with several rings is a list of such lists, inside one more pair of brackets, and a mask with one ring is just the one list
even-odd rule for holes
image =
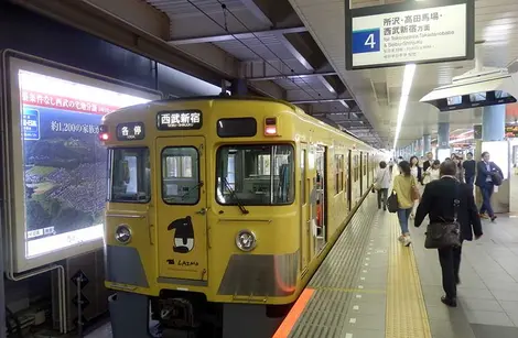
{"label": "hanging white platform sign with blue square numbered 4", "polygon": [[473,59],[474,13],[474,0],[346,6],[346,68]]}

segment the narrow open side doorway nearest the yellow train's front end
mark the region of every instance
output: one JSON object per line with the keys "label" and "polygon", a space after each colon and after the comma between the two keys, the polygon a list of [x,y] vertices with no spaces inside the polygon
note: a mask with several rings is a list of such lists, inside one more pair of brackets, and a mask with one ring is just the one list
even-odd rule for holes
{"label": "narrow open side doorway nearest the yellow train's front end", "polygon": [[327,182],[327,149],[322,145],[316,146],[316,237],[315,249],[320,252],[327,242],[327,204],[326,182]]}

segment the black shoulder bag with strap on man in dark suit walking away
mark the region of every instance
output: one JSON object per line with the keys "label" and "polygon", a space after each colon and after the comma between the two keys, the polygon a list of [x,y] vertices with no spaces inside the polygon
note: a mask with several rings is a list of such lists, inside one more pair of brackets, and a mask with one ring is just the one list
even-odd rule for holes
{"label": "black shoulder bag with strap on man in dark suit walking away", "polygon": [[453,221],[431,222],[428,225],[424,240],[427,249],[444,249],[461,246],[461,225],[457,221],[460,184],[455,187],[455,199],[453,200]]}

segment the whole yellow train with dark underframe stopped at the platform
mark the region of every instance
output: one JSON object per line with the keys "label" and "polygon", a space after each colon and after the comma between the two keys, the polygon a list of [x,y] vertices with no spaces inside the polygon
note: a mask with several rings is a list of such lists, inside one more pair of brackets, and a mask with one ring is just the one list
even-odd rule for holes
{"label": "whole yellow train with dark underframe stopped at the platform", "polygon": [[150,313],[165,329],[251,337],[236,327],[296,299],[380,156],[295,106],[260,98],[133,106],[107,115],[99,138],[109,150],[116,338],[149,337]]}

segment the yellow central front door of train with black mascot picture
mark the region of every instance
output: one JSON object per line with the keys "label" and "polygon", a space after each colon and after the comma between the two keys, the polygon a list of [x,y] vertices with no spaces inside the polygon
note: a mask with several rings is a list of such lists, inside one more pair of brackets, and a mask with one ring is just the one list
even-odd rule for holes
{"label": "yellow central front door of train with black mascot picture", "polygon": [[204,138],[157,139],[159,276],[207,281]]}

